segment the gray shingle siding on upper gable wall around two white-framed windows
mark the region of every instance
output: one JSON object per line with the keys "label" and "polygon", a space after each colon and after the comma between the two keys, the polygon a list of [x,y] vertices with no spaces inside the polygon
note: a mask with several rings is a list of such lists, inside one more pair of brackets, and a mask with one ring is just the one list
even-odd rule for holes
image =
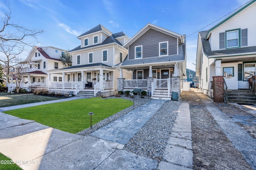
{"label": "gray shingle siding on upper gable wall around two white-framed windows", "polygon": [[159,42],[168,41],[168,55],[177,55],[177,38],[149,29],[129,46],[129,60],[134,59],[134,47],[142,45],[142,58],[158,57]]}

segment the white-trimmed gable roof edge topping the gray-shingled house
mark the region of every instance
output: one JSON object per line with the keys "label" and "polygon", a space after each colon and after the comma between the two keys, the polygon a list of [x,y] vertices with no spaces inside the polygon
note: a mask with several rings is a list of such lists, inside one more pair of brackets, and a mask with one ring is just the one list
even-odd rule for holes
{"label": "white-trimmed gable roof edge topping the gray-shingled house", "polygon": [[180,43],[184,43],[184,38],[183,35],[180,35],[178,33],[172,32],[168,29],[164,29],[162,27],[159,27],[157,25],[154,25],[152,23],[148,23],[147,25],[145,25],[142,29],[140,29],[140,31],[138,31],[138,33],[136,33],[131,39],[129,39],[125,44],[124,47],[128,48],[129,45],[131,45],[134,41],[136,41],[139,37],[141,37],[146,31],[148,31],[148,29],[155,29],[156,31],[160,31],[162,33],[165,33],[167,35],[171,35],[173,37],[176,37],[179,39]]}

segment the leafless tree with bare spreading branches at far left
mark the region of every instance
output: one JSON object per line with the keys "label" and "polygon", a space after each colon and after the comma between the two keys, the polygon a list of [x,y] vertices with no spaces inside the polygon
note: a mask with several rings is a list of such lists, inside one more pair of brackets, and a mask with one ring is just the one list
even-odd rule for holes
{"label": "leafless tree with bare spreading branches at far left", "polygon": [[[26,46],[32,47],[35,41],[38,43],[36,35],[43,33],[44,30],[28,29],[13,23],[12,11],[9,4],[7,5],[9,12],[1,18],[0,22],[0,63],[6,65],[7,74],[10,74],[10,68],[15,66],[16,57],[24,51]],[[30,42],[31,38],[34,42]]]}

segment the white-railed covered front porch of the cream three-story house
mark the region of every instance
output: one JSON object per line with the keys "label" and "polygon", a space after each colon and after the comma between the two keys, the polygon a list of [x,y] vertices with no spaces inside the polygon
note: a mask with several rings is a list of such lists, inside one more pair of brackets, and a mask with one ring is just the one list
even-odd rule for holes
{"label": "white-railed covered front porch of the cream three-story house", "polygon": [[[98,67],[71,66],[49,71],[48,88],[55,91],[72,91],[76,95],[80,91],[93,91],[96,96],[98,92],[114,91],[114,72],[115,69],[100,65]],[[51,76],[53,73],[58,76]]]}

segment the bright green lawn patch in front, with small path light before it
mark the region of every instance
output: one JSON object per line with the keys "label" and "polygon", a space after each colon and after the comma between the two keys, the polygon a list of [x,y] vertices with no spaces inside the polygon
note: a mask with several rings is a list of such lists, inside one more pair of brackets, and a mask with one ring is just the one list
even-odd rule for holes
{"label": "bright green lawn patch in front, with small path light before it", "polygon": [[59,102],[22,109],[4,111],[23,119],[35,120],[38,123],[70,133],[78,133],[90,127],[89,112],[93,112],[92,125],[129,107],[133,102],[124,99],[88,98]]}

